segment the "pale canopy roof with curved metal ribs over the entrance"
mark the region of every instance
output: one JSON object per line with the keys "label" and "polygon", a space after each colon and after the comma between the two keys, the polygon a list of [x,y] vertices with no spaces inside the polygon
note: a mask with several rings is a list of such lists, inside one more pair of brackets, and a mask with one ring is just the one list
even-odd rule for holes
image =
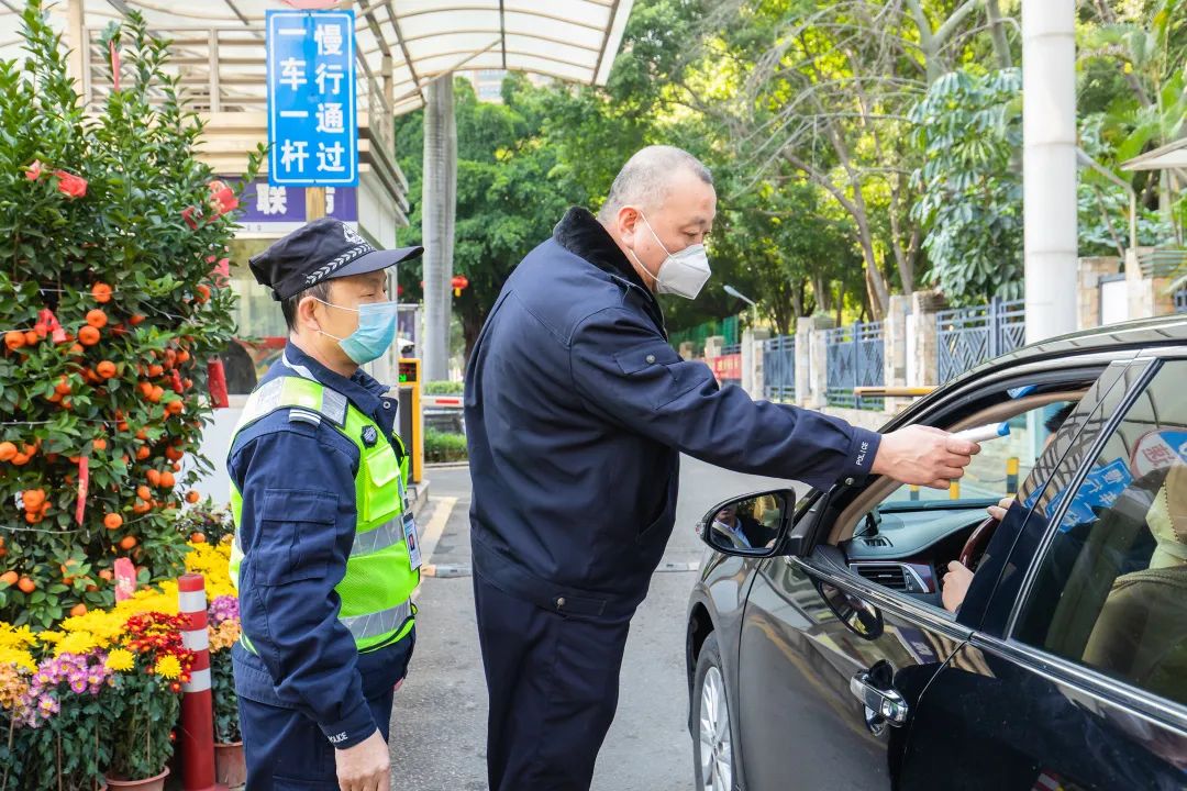
{"label": "pale canopy roof with curved metal ribs over the entrance", "polygon": [[[264,20],[280,0],[74,0],[94,40],[129,9],[171,38],[198,30],[234,34],[235,52],[220,51],[218,71],[245,87],[264,83]],[[17,13],[23,0],[0,0],[0,55],[15,57]],[[506,69],[604,84],[622,42],[634,0],[355,0],[356,42],[379,77],[389,63],[395,114],[424,104],[424,87],[459,70]],[[66,30],[70,0],[46,2]],[[69,39],[69,34],[68,34]],[[254,49],[254,51],[253,51]],[[254,85],[253,85],[254,87]]]}

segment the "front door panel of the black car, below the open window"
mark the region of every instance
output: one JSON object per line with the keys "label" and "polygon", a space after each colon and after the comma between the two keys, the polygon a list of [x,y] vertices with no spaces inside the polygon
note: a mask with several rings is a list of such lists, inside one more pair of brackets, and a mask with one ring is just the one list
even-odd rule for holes
{"label": "front door panel of the black car, below the open window", "polygon": [[[915,701],[967,636],[864,583],[830,547],[764,561],[740,638],[743,787],[890,787],[888,755],[901,752]],[[870,700],[855,696],[857,683]]]}

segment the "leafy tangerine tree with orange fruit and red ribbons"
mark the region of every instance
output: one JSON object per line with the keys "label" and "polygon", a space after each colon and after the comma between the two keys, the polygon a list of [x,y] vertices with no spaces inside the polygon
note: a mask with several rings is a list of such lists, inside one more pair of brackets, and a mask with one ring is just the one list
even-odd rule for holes
{"label": "leafy tangerine tree with orange fruit and red ribbons", "polygon": [[234,331],[211,270],[237,202],[195,159],[202,126],[138,15],[107,33],[123,84],[96,116],[39,1],[24,26],[27,59],[0,63],[0,620],[45,626],[110,605],[118,557],[141,582],[182,567],[173,511],[210,468],[204,363]]}

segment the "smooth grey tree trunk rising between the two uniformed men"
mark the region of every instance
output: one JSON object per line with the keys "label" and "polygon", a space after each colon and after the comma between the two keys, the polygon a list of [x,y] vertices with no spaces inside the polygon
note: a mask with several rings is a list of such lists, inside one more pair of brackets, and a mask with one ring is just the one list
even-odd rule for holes
{"label": "smooth grey tree trunk rising between the two uniformed men", "polygon": [[426,382],[449,378],[450,280],[457,213],[457,123],[453,75],[429,84],[425,107],[424,229]]}

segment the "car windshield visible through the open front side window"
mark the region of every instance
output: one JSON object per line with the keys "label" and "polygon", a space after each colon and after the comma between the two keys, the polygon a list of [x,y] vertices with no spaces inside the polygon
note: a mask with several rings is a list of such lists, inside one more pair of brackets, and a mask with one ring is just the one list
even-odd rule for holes
{"label": "car windshield visible through the open front side window", "polygon": [[1030,474],[1035,459],[1042,454],[1074,406],[1074,401],[1064,401],[1016,415],[1009,421],[1009,436],[983,442],[980,453],[973,457],[964,478],[953,481],[947,491],[900,486],[883,502],[882,508],[901,509],[909,508],[910,503],[939,500],[979,505],[1016,495],[1018,485]]}

